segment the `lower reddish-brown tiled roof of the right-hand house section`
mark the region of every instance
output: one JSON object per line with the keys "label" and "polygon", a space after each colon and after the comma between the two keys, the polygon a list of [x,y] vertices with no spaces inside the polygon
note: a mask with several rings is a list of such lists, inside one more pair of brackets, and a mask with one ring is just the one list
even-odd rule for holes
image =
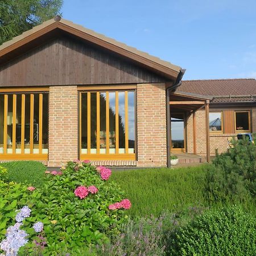
{"label": "lower reddish-brown tiled roof of the right-hand house section", "polygon": [[255,102],[255,79],[185,80],[179,91],[213,97],[212,102]]}

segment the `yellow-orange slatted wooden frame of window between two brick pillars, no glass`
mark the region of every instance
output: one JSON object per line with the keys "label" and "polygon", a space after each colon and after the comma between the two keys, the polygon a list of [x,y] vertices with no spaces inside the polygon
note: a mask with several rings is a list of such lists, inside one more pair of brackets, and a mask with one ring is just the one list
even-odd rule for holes
{"label": "yellow-orange slatted wooden frame of window between two brick pillars, no glass", "polygon": [[[89,90],[88,90],[89,89]],[[119,153],[119,98],[118,94],[124,92],[125,93],[125,153],[121,154]],[[129,103],[128,103],[128,94],[129,92],[134,92],[134,129],[135,129],[135,138],[134,138],[134,153],[129,153]],[[113,89],[108,89],[105,86],[102,86],[102,88],[93,89],[92,86],[89,88],[85,88],[84,86],[80,87],[78,90],[79,93],[79,157],[80,160],[136,160],[137,156],[137,87],[134,85],[128,86],[127,88],[125,86],[116,86],[113,87]],[[81,130],[82,130],[82,109],[81,109],[81,95],[82,93],[87,93],[87,154],[82,154],[82,136],[81,136]],[[90,136],[91,136],[91,130],[90,130],[90,96],[91,93],[96,93],[96,109],[97,109],[97,146],[96,146],[96,154],[92,154],[90,152]],[[100,93],[106,93],[106,152],[100,153]],[[109,153],[109,93],[115,93],[115,153],[110,154]],[[127,134],[127,135],[126,135]]]}

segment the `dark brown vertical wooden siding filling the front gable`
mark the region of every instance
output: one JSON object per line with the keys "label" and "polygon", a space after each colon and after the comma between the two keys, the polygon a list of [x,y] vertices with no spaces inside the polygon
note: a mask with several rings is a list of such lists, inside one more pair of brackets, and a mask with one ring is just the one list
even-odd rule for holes
{"label": "dark brown vertical wooden siding filling the front gable", "polygon": [[0,86],[164,82],[113,53],[61,37],[0,66]]}

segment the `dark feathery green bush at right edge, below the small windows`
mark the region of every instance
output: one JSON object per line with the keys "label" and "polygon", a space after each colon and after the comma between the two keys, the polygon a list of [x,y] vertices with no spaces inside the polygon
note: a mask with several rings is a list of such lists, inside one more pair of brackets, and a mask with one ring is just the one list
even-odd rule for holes
{"label": "dark feathery green bush at right edge, below the small windows", "polygon": [[232,196],[246,200],[256,195],[256,146],[247,139],[234,141],[234,147],[218,155],[207,172],[209,199]]}

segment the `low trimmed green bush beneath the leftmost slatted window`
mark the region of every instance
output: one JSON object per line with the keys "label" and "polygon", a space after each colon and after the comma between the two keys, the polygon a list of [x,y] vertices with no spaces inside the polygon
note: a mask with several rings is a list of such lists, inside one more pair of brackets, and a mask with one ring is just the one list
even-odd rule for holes
{"label": "low trimmed green bush beneath the leftmost slatted window", "polygon": [[9,173],[10,181],[27,183],[35,187],[40,187],[43,183],[46,167],[36,161],[13,161],[0,163]]}

